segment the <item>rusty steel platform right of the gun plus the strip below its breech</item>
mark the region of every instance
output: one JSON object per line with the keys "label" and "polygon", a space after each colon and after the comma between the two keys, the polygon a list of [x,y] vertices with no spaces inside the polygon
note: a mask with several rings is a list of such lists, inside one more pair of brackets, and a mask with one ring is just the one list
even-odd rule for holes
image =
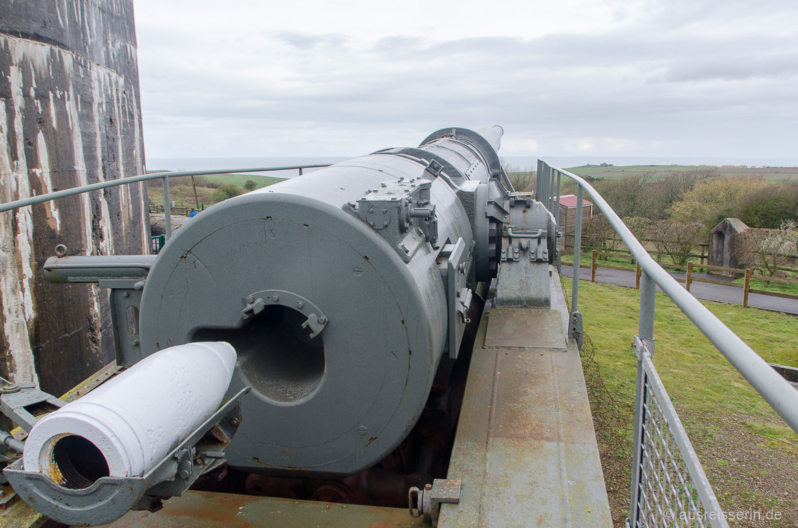
{"label": "rusty steel platform right of the gun plus the strip below its breech", "polygon": [[[448,479],[459,504],[441,528],[612,526],[579,351],[552,270],[551,309],[491,308],[480,321]],[[21,503],[21,501],[18,501]],[[44,520],[24,503],[14,526]],[[12,518],[14,519],[12,521]],[[25,519],[22,525],[18,522]],[[11,525],[3,525],[11,526]],[[131,511],[108,528],[430,526],[406,509],[189,491],[156,514]]]}

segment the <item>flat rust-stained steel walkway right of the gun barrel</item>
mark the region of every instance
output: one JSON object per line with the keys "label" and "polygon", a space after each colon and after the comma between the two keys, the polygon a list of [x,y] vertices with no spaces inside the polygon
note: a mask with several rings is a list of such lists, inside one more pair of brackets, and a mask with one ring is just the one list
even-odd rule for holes
{"label": "flat rust-stained steel walkway right of the gun barrel", "polygon": [[448,471],[460,503],[442,506],[441,528],[612,526],[556,271],[551,283],[552,309],[491,309],[480,321]]}

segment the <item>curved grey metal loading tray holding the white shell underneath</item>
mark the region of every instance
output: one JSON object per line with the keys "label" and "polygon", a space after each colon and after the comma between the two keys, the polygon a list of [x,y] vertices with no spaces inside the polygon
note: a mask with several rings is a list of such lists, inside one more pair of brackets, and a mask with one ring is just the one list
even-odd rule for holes
{"label": "curved grey metal loading tray holding the white shell underneath", "polygon": [[243,388],[227,400],[142,477],[102,477],[88,488],[70,490],[41,473],[25,471],[22,460],[3,473],[34,510],[69,525],[107,524],[128,510],[157,511],[164,498],[183,495],[200,475],[224,463],[220,453],[241,423],[241,398],[249,391]]}

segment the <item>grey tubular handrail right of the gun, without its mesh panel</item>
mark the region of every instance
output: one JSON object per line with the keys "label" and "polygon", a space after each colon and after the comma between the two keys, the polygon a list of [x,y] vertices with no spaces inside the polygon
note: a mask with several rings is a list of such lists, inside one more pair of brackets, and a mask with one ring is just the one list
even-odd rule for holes
{"label": "grey tubular handrail right of the gun, without its mesh panel", "polygon": [[[547,164],[543,165],[548,167]],[[622,242],[626,244],[626,247],[629,248],[630,253],[642,268],[643,273],[646,275],[646,277],[643,278],[642,284],[644,282],[649,282],[646,281],[646,278],[650,278],[650,281],[654,282],[656,286],[659,286],[662,291],[674,301],[679,309],[685,313],[689,320],[693,321],[693,325],[696,325],[697,328],[701,330],[701,333],[703,333],[705,337],[715,345],[720,353],[729,360],[729,363],[731,363],[734,368],[737,368],[737,372],[740,372],[745,380],[748,380],[749,384],[760,393],[760,396],[768,402],[773,410],[787,422],[792,430],[798,433],[798,391],[792,388],[792,385],[788,384],[787,380],[784,380],[784,378],[768,365],[759,354],[754,352],[749,345],[746,345],[745,341],[737,337],[736,333],[733,333],[720,319],[715,317],[705,305],[702,305],[700,301],[685,290],[675,278],[671,277],[666,270],[663,270],[662,266],[654,261],[654,258],[651,258],[646,248],[638,242],[638,239],[635,238],[634,234],[626,227],[626,224],[623,223],[612,207],[610,207],[610,204],[606,203],[606,200],[602,198],[602,195],[599,195],[599,192],[596,191],[590,183],[587,183],[587,181],[572,172],[553,167],[548,168],[551,171],[557,171],[560,175],[566,176],[579,184],[577,191],[577,215],[582,211],[582,207],[579,207],[582,205],[581,191],[584,189],[584,191],[587,192],[587,195],[593,199],[595,205],[599,207],[599,210],[602,211],[607,221],[609,221],[610,225],[620,235]],[[540,179],[544,179],[544,177]],[[546,186],[546,183],[544,183],[544,186]],[[543,201],[539,196],[537,199]],[[543,197],[543,199],[546,199],[546,197]],[[577,229],[581,227],[579,220],[577,220],[576,226]],[[579,235],[581,235],[581,229],[577,231],[577,237],[579,237]],[[574,257],[574,262],[579,262],[576,257]],[[579,266],[574,266],[575,283],[579,282],[578,270]],[[575,288],[576,287],[578,286],[575,286]],[[644,336],[643,328],[644,326],[650,326],[650,329],[653,330],[654,284],[650,284],[650,286],[646,288],[642,286],[642,290],[645,290],[642,291],[642,296],[644,296],[645,299],[641,299],[640,337],[643,340],[652,340],[653,333],[650,336]],[[571,312],[576,311],[576,298],[576,294],[574,294],[572,296],[572,301],[574,302],[571,306]]]}

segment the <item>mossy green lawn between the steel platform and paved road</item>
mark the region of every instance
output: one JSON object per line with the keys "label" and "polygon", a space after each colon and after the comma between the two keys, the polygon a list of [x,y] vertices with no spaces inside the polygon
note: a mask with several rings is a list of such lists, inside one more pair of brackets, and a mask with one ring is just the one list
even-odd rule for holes
{"label": "mossy green lawn between the steel platform and paved road", "polygon": [[[563,278],[571,291],[571,280]],[[629,508],[639,292],[582,282],[579,309],[588,392],[615,526]],[[765,361],[798,366],[798,317],[701,301]],[[607,309],[611,306],[612,309]],[[664,294],[657,294],[654,364],[724,510],[769,509],[780,521],[730,520],[730,526],[798,524],[798,435]]]}

